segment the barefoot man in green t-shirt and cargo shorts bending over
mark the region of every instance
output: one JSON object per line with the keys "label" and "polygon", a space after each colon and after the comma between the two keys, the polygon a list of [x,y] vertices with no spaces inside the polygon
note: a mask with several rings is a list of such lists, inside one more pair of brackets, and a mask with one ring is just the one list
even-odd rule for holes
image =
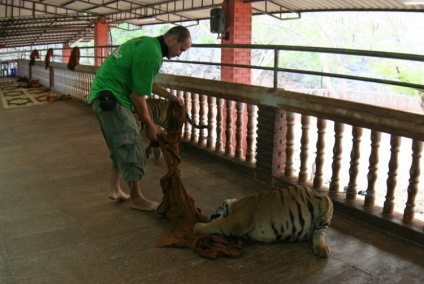
{"label": "barefoot man in green t-shirt and cargo shorts bending over", "polygon": [[[191,47],[187,28],[176,26],[159,37],[142,36],[117,48],[97,71],[88,103],[96,111],[112,160],[112,200],[131,197],[132,208],[156,210],[158,203],[141,193],[140,181],[146,167],[146,154],[137,121],[138,114],[149,139],[158,139],[158,129],[152,122],[146,97],[153,93],[168,100],[183,102],[154,82],[163,57],[180,56]],[[130,195],[120,187],[122,178],[128,182]]]}

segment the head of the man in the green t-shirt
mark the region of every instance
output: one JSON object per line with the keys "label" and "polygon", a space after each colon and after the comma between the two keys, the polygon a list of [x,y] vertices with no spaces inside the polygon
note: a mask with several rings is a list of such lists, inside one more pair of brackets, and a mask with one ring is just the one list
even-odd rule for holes
{"label": "head of the man in the green t-shirt", "polygon": [[168,55],[166,56],[168,59],[180,56],[191,47],[190,31],[186,27],[175,26],[169,29],[163,37],[168,46]]}

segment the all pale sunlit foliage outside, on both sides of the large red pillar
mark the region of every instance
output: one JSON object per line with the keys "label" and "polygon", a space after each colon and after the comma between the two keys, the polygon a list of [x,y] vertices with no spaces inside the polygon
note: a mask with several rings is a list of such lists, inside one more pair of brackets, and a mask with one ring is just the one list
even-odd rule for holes
{"label": "all pale sunlit foliage outside, on both sides of the large red pillar", "polygon": [[[111,29],[111,44],[120,45],[139,36],[158,36],[173,25],[133,26],[120,24]],[[217,34],[210,32],[209,21],[200,21],[190,26],[193,43],[221,43]],[[252,19],[252,44],[290,45],[310,47],[331,47],[358,50],[388,51],[423,54],[424,37],[417,31],[424,30],[422,13],[397,12],[328,12],[304,13],[301,19],[279,20],[267,15]],[[94,42],[79,43],[78,46],[93,46]],[[87,49],[88,50],[88,49]],[[252,50],[252,64],[266,67],[274,65],[273,50]],[[219,62],[219,49],[191,48],[182,56],[186,60]],[[181,69],[176,65],[176,69]],[[304,69],[329,73],[348,74],[362,77],[399,80],[415,84],[424,83],[424,64],[421,62],[396,62],[395,60],[373,59],[370,57],[319,54],[307,52],[280,51],[279,67]],[[173,72],[168,66],[167,71]],[[194,69],[201,69],[196,66]],[[212,70],[212,67],[206,68]],[[207,72],[207,71],[206,71]],[[215,72],[215,71],[214,71]],[[254,84],[272,82],[269,71],[254,70]],[[373,91],[381,90],[382,84],[362,83],[350,80],[328,79],[302,74],[279,74],[284,84],[302,88],[327,88]],[[201,75],[200,75],[201,76]],[[214,75],[219,77],[219,75]],[[271,79],[270,79],[271,77]],[[387,87],[389,92],[408,95],[418,94],[417,90],[404,87]]]}

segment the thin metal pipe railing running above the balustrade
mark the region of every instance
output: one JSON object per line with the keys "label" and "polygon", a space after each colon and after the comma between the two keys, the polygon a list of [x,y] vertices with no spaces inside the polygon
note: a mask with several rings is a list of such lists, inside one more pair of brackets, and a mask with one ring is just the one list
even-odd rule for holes
{"label": "thin metal pipe railing running above the balustrade", "polygon": [[[87,60],[90,61],[92,65],[94,64],[96,59],[100,59],[100,61],[104,61],[106,58],[105,54],[110,53],[113,49],[115,49],[117,46],[111,45],[111,46],[96,46],[96,47],[80,47],[81,53],[83,51],[86,51],[86,55],[81,55],[81,60]],[[70,50],[70,48],[55,48],[53,53],[55,56],[51,58],[52,61],[57,63],[62,63],[63,57],[62,53],[63,51],[67,49]],[[94,50],[98,49],[100,50],[100,56],[94,55]],[[250,50],[259,50],[261,52],[263,51],[272,51],[273,57],[274,57],[274,64],[272,67],[268,66],[260,66],[260,65],[245,65],[245,64],[228,64],[228,63],[222,63],[222,62],[208,62],[205,60],[198,61],[198,60],[164,60],[164,62],[172,62],[172,63],[189,63],[189,64],[196,64],[196,65],[207,65],[207,66],[227,66],[227,67],[234,67],[234,68],[249,68],[249,69],[256,69],[256,70],[265,70],[265,71],[272,71],[274,82],[273,87],[277,88],[279,87],[278,82],[278,74],[281,72],[285,73],[297,73],[297,74],[305,74],[305,75],[312,75],[312,76],[325,76],[329,78],[339,78],[339,79],[346,79],[346,80],[356,80],[356,81],[362,81],[362,82],[370,82],[370,83],[379,83],[379,84],[385,84],[385,85],[393,85],[393,86],[401,86],[401,87],[408,87],[408,88],[415,88],[415,89],[424,89],[424,85],[421,83],[411,83],[411,82],[404,82],[400,80],[389,80],[384,78],[373,78],[369,76],[356,76],[356,75],[349,75],[349,74],[340,74],[340,73],[333,73],[333,72],[322,72],[322,71],[314,71],[314,70],[302,70],[302,69],[293,69],[293,68],[281,68],[279,67],[281,57],[280,55],[283,52],[304,52],[304,53],[315,53],[315,54],[335,54],[335,55],[346,55],[346,56],[360,56],[360,57],[369,57],[369,58],[383,58],[384,60],[400,60],[400,61],[411,61],[411,62],[424,62],[424,56],[423,55],[417,55],[417,54],[406,54],[406,53],[395,53],[395,52],[381,52],[381,51],[367,51],[367,50],[355,50],[355,49],[340,49],[340,48],[325,48],[325,47],[309,47],[309,46],[288,46],[288,45],[255,45],[255,44],[193,44],[193,49],[250,49]],[[43,60],[45,54],[47,54],[47,48],[46,49],[40,49],[40,60]],[[105,50],[108,50],[108,52],[105,52]],[[6,52],[0,52],[0,55],[2,57],[11,57],[14,58],[14,60],[19,58],[25,58],[29,59],[31,54],[31,50],[21,50],[21,51],[6,51]],[[65,56],[69,59],[69,55]],[[184,57],[183,57],[184,58]],[[202,57],[200,57],[202,58]],[[83,63],[87,65],[87,63]]]}

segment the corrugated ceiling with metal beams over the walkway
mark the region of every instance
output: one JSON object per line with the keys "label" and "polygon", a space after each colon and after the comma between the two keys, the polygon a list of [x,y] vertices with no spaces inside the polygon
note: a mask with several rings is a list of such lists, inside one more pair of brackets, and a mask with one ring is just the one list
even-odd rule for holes
{"label": "corrugated ceiling with metal beams over the walkway", "polygon": [[[224,0],[0,0],[0,48],[70,44],[93,39],[100,16],[113,27],[161,23],[189,25],[208,19]],[[415,11],[424,4],[406,0],[244,0],[254,14],[298,17],[303,12]],[[410,0],[411,1],[411,0]],[[423,1],[424,2],[424,1]]]}

